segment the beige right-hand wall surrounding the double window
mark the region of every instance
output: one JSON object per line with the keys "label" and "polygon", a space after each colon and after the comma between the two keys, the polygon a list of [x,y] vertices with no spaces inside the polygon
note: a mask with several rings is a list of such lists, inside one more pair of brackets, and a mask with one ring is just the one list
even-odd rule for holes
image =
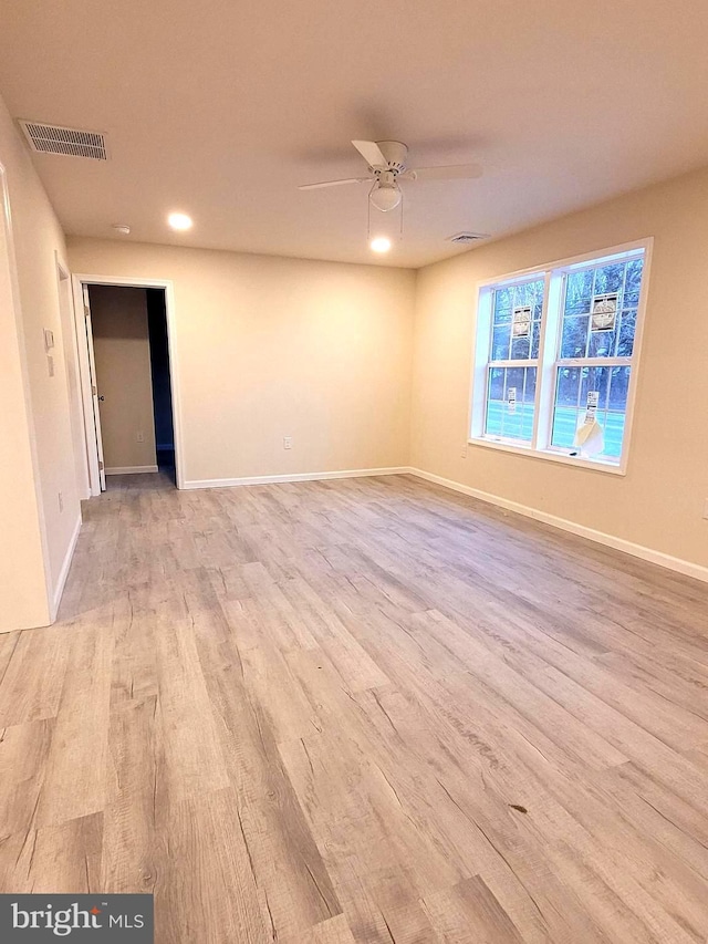
{"label": "beige right-hand wall surrounding the double window", "polygon": [[[470,446],[479,280],[655,237],[626,477]],[[545,514],[708,566],[708,170],[418,272],[412,464]]]}

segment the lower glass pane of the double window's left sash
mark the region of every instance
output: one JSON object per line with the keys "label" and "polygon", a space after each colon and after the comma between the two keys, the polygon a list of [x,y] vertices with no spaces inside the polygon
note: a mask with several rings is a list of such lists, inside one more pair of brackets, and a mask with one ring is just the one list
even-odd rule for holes
{"label": "lower glass pane of the double window's left sash", "polygon": [[485,435],[530,443],[535,367],[490,367]]}

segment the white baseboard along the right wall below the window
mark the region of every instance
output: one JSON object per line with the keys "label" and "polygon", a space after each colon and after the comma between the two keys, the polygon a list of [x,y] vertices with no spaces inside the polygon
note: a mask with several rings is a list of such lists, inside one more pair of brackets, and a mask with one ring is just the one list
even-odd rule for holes
{"label": "white baseboard along the right wall below the window", "polygon": [[708,582],[708,568],[702,567],[693,561],[683,560],[681,558],[673,557],[671,554],[656,551],[653,548],[635,544],[633,541],[627,541],[625,538],[617,538],[614,535],[607,535],[604,531],[596,531],[594,528],[589,528],[585,525],[577,525],[575,521],[569,521],[566,518],[559,518],[556,515],[549,515],[546,511],[540,511],[538,508],[530,508],[528,505],[521,505],[519,501],[510,501],[508,498],[502,498],[499,495],[491,495],[488,491],[481,491],[479,488],[472,488],[469,485],[462,485],[459,481],[452,481],[449,478],[442,478],[439,475],[424,471],[423,469],[410,468],[410,475],[417,478],[423,478],[426,481],[435,483],[444,488],[449,488],[452,491],[460,491],[462,495],[469,495],[471,498],[479,498],[480,501],[487,501],[489,505],[496,505],[498,508],[506,508],[509,511],[516,511],[517,515],[523,515],[527,518],[533,518],[535,521],[542,521],[544,525],[552,525],[554,528],[560,528],[562,531],[570,531],[572,535],[577,535],[581,538],[587,538],[590,541],[595,541],[598,544],[605,544],[608,548],[614,548],[617,551],[632,554],[650,563],[666,567],[669,570],[675,570],[686,577],[694,577],[696,580]]}

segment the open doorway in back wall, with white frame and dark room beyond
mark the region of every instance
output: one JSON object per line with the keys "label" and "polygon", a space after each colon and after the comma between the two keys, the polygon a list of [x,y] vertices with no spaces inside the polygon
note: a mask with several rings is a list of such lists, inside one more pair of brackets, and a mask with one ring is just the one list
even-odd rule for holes
{"label": "open doorway in back wall, with white frame and dark room beyond", "polygon": [[159,473],[179,488],[170,284],[75,276],[74,286],[91,494],[115,475]]}

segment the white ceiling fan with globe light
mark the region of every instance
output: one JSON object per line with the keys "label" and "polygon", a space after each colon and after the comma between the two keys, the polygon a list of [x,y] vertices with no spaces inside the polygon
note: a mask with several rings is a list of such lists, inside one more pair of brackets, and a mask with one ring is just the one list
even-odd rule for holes
{"label": "white ceiling fan with globe light", "polygon": [[456,164],[447,167],[418,167],[408,169],[408,146],[399,141],[353,141],[352,144],[368,166],[366,177],[346,177],[344,180],[324,180],[303,184],[300,190],[320,187],[339,187],[341,184],[373,184],[368,195],[372,206],[383,212],[395,209],[402,200],[400,180],[460,180],[480,177],[479,164]]}

